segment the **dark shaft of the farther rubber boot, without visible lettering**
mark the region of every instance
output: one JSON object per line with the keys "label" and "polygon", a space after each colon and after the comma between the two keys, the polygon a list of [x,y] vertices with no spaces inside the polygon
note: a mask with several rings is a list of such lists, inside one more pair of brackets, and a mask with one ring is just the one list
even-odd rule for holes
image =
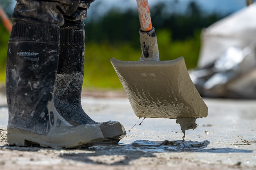
{"label": "dark shaft of the farther rubber boot, without visible lettering", "polygon": [[60,59],[55,88],[57,106],[62,101],[80,101],[84,76],[84,43],[83,21],[65,21],[61,27]]}

